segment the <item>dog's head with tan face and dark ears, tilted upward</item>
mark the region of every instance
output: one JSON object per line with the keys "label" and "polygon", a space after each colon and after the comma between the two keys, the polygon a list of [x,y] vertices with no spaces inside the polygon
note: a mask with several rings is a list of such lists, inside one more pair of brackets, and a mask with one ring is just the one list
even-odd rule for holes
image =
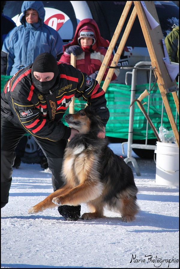
{"label": "dog's head with tan face and dark ears, tilted upward", "polygon": [[67,114],[64,117],[68,125],[78,130],[80,134],[89,134],[92,132],[97,136],[103,129],[103,123],[100,117],[89,106],[79,110],[75,114]]}

